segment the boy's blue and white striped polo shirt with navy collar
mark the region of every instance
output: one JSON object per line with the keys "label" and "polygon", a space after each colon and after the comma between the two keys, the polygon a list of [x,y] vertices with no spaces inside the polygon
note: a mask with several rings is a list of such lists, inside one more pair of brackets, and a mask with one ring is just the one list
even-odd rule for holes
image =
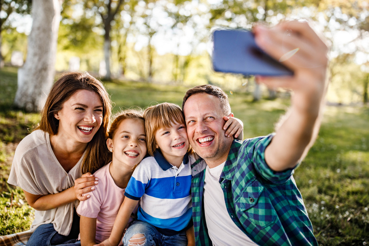
{"label": "boy's blue and white striped polo shirt with navy collar", "polygon": [[[125,189],[125,196],[140,200],[138,220],[164,231],[181,231],[192,224],[191,163],[194,156],[184,156],[179,168],[160,153],[143,159]],[[165,234],[164,232],[162,232]]]}

